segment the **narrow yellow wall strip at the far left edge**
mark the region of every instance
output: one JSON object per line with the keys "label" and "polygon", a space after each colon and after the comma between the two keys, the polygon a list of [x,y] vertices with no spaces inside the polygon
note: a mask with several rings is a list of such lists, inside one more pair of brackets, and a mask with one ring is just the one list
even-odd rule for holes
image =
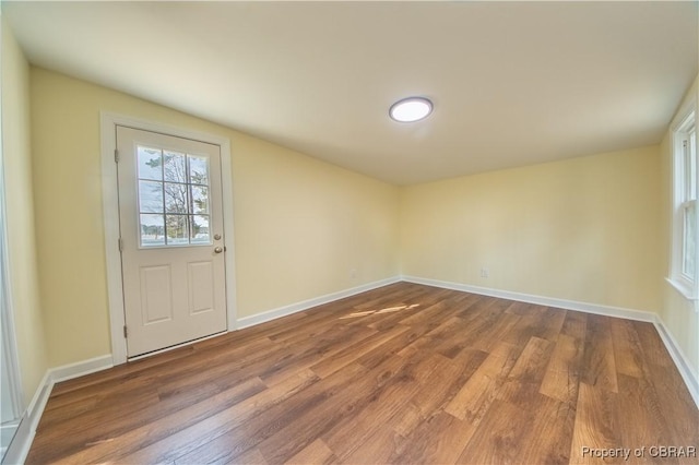
{"label": "narrow yellow wall strip at the far left edge", "polygon": [[[29,145],[29,67],[2,21],[2,157],[10,291],[25,406],[48,368],[39,305]],[[4,322],[3,322],[4,323]]]}

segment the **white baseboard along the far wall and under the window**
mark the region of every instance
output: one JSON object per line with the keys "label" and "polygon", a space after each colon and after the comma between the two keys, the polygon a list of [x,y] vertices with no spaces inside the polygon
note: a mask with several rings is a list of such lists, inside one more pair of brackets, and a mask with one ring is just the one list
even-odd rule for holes
{"label": "white baseboard along the far wall and under the window", "polygon": [[603,314],[607,317],[624,318],[626,320],[643,321],[653,323],[657,333],[665,345],[665,348],[670,353],[677,371],[682,375],[691,398],[699,408],[699,379],[694,373],[689,359],[684,355],[679,345],[672,336],[672,333],[667,331],[667,326],[657,313],[652,313],[641,310],[632,310],[620,307],[601,306],[597,303],[578,302],[574,300],[557,299],[552,297],[533,296],[529,294],[511,293],[509,290],[490,289],[487,287],[471,286],[461,283],[451,283],[438,279],[428,279],[416,276],[402,276],[402,281],[407,283],[424,284],[426,286],[441,287],[445,289],[462,290],[465,293],[478,294],[483,296],[498,297],[501,299],[517,300],[520,302],[535,303],[547,307],[556,307],[565,310],[576,310],[585,313]]}

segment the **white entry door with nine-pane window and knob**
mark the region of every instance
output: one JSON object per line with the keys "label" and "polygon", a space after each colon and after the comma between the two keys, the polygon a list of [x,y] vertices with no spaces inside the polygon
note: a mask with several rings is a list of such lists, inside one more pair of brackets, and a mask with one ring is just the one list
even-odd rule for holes
{"label": "white entry door with nine-pane window and knob", "polygon": [[221,147],[117,127],[127,355],[224,332]]}

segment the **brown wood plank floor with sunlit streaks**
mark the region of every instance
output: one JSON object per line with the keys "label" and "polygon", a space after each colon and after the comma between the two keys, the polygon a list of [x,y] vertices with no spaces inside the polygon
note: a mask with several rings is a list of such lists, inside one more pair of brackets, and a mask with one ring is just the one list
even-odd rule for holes
{"label": "brown wood plank floor with sunlit streaks", "polygon": [[697,448],[652,324],[399,283],[60,383],[27,463],[696,464]]}

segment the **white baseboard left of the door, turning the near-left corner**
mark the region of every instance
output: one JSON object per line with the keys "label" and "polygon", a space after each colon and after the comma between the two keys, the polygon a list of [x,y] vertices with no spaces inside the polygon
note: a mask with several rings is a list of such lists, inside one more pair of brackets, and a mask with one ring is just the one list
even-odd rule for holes
{"label": "white baseboard left of the door, turning the near-left corner", "polygon": [[51,395],[54,384],[94,373],[96,371],[106,370],[112,366],[111,355],[104,355],[90,360],[79,361],[76,363],[64,365],[62,367],[56,367],[47,370],[36,390],[36,393],[34,394],[34,397],[32,398],[32,402],[29,403],[29,406],[22,416],[17,431],[8,446],[8,451],[2,463],[23,464],[26,460],[26,455],[29,453],[29,448],[34,441],[36,427],[42,419],[44,408],[46,408],[46,403]]}

